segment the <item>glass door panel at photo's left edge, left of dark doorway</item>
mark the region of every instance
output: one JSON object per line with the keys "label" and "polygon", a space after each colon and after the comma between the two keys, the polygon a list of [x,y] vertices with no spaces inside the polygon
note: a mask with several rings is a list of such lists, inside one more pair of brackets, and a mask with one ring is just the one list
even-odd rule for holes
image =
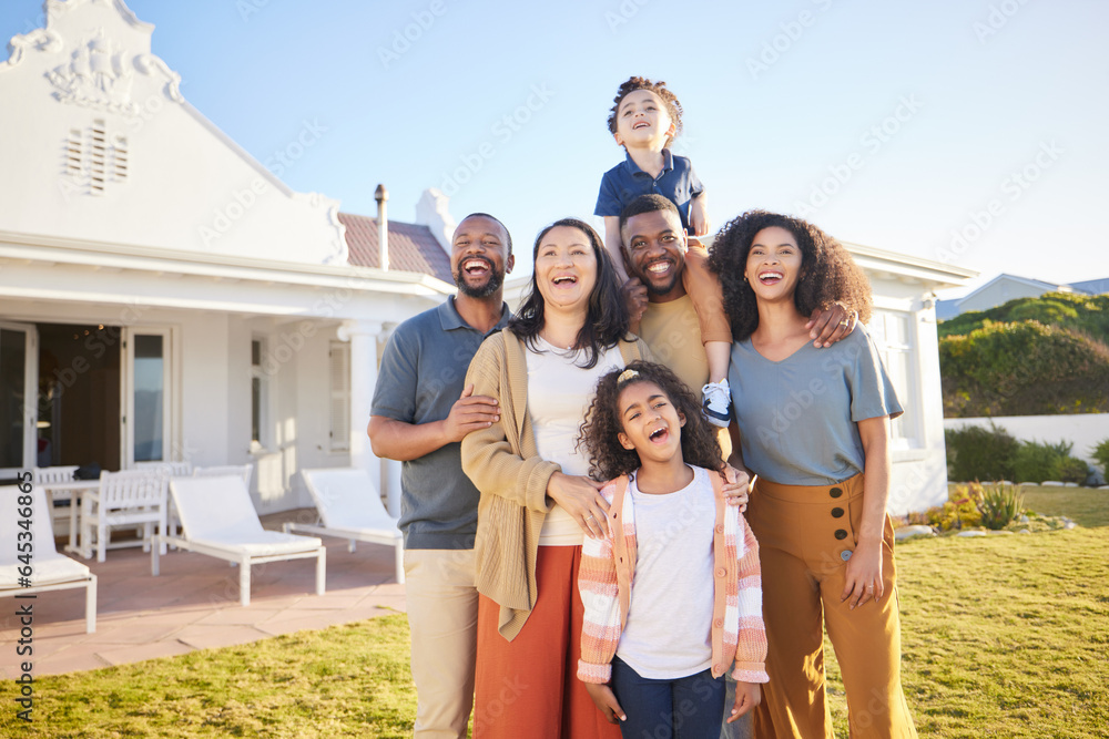
{"label": "glass door panel at photo's left edge, left of dark doorway", "polygon": [[0,479],[37,462],[38,333],[0,321]]}

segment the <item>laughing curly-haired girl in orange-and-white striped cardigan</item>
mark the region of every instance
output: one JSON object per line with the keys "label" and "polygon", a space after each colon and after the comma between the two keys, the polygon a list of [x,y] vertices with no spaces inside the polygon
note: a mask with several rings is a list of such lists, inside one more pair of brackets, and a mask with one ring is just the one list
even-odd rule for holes
{"label": "laughing curly-haired girl in orange-and-white striped cardigan", "polygon": [[670,370],[634,361],[601,378],[581,441],[611,481],[612,537],[582,546],[578,678],[624,737],[718,737],[724,673],[729,721],[767,677],[759,545],[725,504],[715,434]]}

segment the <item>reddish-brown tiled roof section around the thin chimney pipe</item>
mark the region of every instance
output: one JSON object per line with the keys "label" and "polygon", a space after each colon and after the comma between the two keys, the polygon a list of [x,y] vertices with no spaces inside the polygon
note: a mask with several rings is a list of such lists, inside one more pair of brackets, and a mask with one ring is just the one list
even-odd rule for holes
{"label": "reddish-brown tiled roof section around the thin chimney pipe", "polygon": [[[346,242],[349,261],[359,267],[380,267],[381,247],[377,240],[377,218],[339,214],[339,223],[346,226]],[[450,258],[427,226],[389,220],[389,269],[414,271],[438,277],[448,285],[455,280],[450,276]]]}

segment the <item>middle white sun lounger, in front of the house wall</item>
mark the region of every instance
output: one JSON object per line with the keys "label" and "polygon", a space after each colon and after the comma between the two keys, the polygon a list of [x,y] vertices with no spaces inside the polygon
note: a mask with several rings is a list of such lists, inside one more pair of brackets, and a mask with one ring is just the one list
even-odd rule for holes
{"label": "middle white sun lounger, in front of the house wall", "polygon": [[[316,595],[324,594],[327,550],[315,536],[266,531],[258,521],[241,475],[177,478],[170,481],[181,516],[182,535],[160,535],[162,543],[238,565],[238,602],[251,605],[251,566],[284,560],[316,558]],[[159,547],[151,548],[151,572],[159,574]]]}

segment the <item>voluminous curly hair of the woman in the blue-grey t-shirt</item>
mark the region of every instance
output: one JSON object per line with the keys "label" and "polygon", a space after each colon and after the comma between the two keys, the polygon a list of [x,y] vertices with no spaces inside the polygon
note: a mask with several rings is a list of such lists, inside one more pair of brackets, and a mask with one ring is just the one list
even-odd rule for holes
{"label": "voluminous curly hair of the woman in the blue-grey t-shirt", "polygon": [[807,318],[817,308],[826,310],[838,302],[848,311],[857,310],[864,324],[871,320],[871,283],[843,244],[801,218],[747,211],[720,229],[709,257],[709,269],[720,275],[734,340],[743,341],[759,328],[755,294],[743,273],[755,236],[774,226],[793,234],[801,248],[801,278],[793,302],[802,316]]}

